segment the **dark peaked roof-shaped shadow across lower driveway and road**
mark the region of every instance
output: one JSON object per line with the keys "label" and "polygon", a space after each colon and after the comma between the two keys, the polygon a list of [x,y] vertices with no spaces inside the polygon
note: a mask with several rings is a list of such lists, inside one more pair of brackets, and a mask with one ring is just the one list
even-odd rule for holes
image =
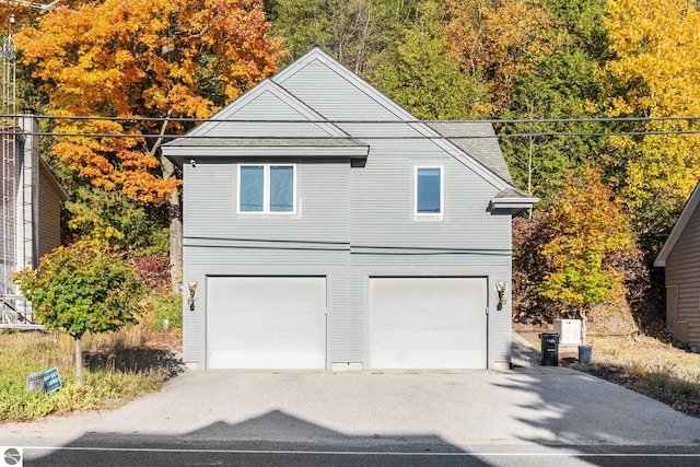
{"label": "dark peaked roof-shaped shadow across lower driveway and road", "polygon": [[27,453],[33,455],[26,466],[489,465],[440,436],[352,436],[279,410],[182,435],[86,433],[60,448],[25,448]]}

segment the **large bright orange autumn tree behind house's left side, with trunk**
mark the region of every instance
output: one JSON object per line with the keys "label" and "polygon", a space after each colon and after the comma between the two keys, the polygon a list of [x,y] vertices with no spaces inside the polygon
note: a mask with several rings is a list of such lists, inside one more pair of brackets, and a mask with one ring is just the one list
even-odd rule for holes
{"label": "large bright orange autumn tree behind house's left side, with trunk", "polygon": [[[56,122],[54,131],[67,136],[51,153],[75,185],[167,202],[173,242],[179,182],[160,156],[161,139],[147,136],[166,125],[167,132],[180,131],[170,118],[207,118],[277,71],[281,39],[269,31],[262,0],[104,0],[59,5],[15,42],[48,112],[118,117]],[[171,254],[177,250],[172,244]],[[173,262],[175,277],[179,260]]]}

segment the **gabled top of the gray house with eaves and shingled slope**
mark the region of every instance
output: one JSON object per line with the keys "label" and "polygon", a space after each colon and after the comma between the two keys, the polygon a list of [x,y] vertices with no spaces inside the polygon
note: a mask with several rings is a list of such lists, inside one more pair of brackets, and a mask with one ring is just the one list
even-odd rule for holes
{"label": "gabled top of the gray house with eaves and shingled slope", "polygon": [[[322,84],[330,79],[334,90],[329,93]],[[345,101],[371,103],[372,112],[336,105],[338,90]],[[250,104],[257,100],[273,103],[273,115],[256,112]],[[497,188],[503,195],[500,201],[520,200],[520,205],[529,207],[538,201],[513,187],[490,122],[419,120],[319,47],[260,82],[185,137],[163,144],[163,152],[178,163],[191,155],[188,148],[207,148],[208,155],[221,156],[366,157],[370,145],[346,129],[353,125],[366,128],[365,124],[374,121],[397,125],[392,127],[397,129],[397,138],[430,140]],[[284,151],[275,151],[280,148]]]}

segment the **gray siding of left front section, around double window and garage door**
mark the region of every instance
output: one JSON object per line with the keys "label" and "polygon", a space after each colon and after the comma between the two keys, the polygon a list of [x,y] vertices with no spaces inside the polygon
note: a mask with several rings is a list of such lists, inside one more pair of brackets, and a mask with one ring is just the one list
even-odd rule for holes
{"label": "gray siding of left front section, around double window and garage door", "polygon": [[[237,161],[185,165],[185,283],[203,284],[207,276],[324,276],[328,361],[346,361],[349,163],[315,161],[295,167],[296,214],[265,215],[236,213]],[[202,289],[201,310],[207,300]],[[205,319],[205,314],[185,311],[186,361],[203,361]]]}

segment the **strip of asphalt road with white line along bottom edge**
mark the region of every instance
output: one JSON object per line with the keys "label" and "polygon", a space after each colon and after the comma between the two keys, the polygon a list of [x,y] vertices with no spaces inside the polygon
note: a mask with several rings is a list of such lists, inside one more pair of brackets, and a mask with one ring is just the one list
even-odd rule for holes
{"label": "strip of asphalt road with white line along bottom edge", "polygon": [[[408,447],[408,446],[406,446]],[[506,446],[474,452],[338,450],[338,446],[249,445],[225,447],[66,447],[24,450],[25,466],[697,466],[700,452],[688,448],[544,448]],[[31,457],[30,457],[31,455]]]}

